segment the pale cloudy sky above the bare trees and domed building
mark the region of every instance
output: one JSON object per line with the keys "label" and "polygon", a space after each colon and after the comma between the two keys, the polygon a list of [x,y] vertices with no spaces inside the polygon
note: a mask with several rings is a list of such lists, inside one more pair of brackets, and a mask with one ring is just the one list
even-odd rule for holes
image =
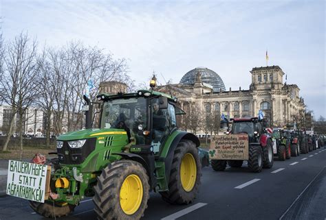
{"label": "pale cloudy sky above the bare trees and domed building", "polygon": [[[1,1],[1,0],[0,0]],[[279,65],[315,117],[326,117],[325,1],[1,1],[3,36],[98,45],[126,58],[137,83],[164,84],[197,66],[226,89],[248,89],[250,70]],[[284,77],[285,80],[285,77]]]}

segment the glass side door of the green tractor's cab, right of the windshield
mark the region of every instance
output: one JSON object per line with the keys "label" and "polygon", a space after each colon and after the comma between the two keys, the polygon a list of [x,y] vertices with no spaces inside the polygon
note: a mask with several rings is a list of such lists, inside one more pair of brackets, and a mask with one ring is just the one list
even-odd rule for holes
{"label": "glass side door of the green tractor's cab, right of the windshield", "polygon": [[[160,105],[161,103],[161,105]],[[162,105],[160,98],[151,99],[151,145],[154,154],[160,152],[162,143],[176,127],[175,107],[171,103]]]}

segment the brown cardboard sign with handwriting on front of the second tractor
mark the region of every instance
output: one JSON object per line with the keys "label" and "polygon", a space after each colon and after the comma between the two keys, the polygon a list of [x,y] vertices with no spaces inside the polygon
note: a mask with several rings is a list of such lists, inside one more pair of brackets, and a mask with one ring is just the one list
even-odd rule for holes
{"label": "brown cardboard sign with handwriting on front of the second tractor", "polygon": [[210,159],[248,160],[248,134],[217,135],[210,139]]}

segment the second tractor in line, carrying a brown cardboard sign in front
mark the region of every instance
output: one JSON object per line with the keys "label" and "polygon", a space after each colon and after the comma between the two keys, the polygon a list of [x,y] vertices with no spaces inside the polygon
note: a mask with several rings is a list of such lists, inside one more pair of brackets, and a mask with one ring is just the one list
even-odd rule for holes
{"label": "second tractor in line, carrying a brown cardboard sign in front", "polygon": [[211,140],[209,153],[212,168],[224,171],[227,163],[230,167],[241,167],[243,160],[248,160],[252,172],[271,168],[274,163],[272,138],[265,134],[263,121],[257,117],[230,121],[232,130]]}

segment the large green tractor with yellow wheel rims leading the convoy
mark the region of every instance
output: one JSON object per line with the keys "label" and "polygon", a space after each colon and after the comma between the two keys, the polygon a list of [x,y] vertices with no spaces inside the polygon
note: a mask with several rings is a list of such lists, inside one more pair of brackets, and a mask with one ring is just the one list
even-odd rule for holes
{"label": "large green tractor with yellow wheel rims leading the convoy", "polygon": [[[30,201],[44,217],[62,217],[93,197],[98,219],[140,219],[149,191],[170,204],[195,199],[202,176],[199,140],[177,130],[177,98],[154,90],[101,94],[100,117],[87,103],[85,130],[57,138],[50,197]],[[94,118],[98,128],[92,128]]]}

